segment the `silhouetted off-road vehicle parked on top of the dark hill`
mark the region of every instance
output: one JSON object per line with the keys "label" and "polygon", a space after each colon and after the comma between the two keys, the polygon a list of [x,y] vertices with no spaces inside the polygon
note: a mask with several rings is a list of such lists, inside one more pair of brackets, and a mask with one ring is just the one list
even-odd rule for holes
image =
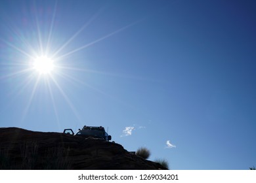
{"label": "silhouetted off-road vehicle parked on top of the dark hill", "polygon": [[79,135],[83,137],[94,137],[97,139],[104,139],[105,141],[111,141],[111,135],[106,133],[104,127],[99,126],[83,126],[82,129],[78,129],[77,133],[74,133],[72,129],[64,129],[63,133],[67,133],[70,135]]}

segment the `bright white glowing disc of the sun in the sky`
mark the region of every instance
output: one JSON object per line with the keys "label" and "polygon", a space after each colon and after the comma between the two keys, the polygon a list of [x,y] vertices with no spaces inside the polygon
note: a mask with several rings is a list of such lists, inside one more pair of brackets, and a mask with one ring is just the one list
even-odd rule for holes
{"label": "bright white glowing disc of the sun in the sky", "polygon": [[39,74],[49,74],[54,69],[53,60],[47,56],[40,56],[34,59],[33,69]]}

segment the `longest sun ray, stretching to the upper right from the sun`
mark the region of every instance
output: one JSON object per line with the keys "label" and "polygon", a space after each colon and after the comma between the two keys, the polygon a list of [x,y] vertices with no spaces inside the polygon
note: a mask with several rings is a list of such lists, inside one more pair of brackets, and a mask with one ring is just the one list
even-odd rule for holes
{"label": "longest sun ray, stretching to the upper right from the sun", "polygon": [[66,57],[66,56],[69,56],[69,55],[71,55],[71,54],[74,54],[75,52],[78,52],[78,51],[80,51],[80,50],[83,50],[83,49],[85,49],[85,48],[87,48],[87,47],[89,47],[89,46],[91,46],[91,45],[93,45],[93,44],[95,44],[95,43],[97,43],[97,42],[103,41],[104,39],[107,39],[108,37],[111,37],[111,36],[113,36],[113,35],[116,35],[117,33],[119,33],[119,32],[121,32],[121,31],[127,29],[128,27],[131,27],[132,25],[137,24],[137,23],[140,22],[140,21],[141,21],[141,20],[139,20],[139,21],[137,21],[137,22],[133,22],[132,24],[126,25],[126,26],[124,26],[124,27],[121,27],[120,29],[117,29],[116,31],[114,31],[114,32],[112,32],[112,33],[109,33],[108,35],[105,35],[105,36],[103,36],[103,37],[100,37],[99,39],[96,39],[96,40],[93,41],[93,42],[90,42],[90,43],[85,44],[85,45],[83,45],[83,46],[81,46],[81,47],[79,47],[79,48],[76,48],[76,49],[74,49],[74,50],[68,52],[67,54],[63,54],[62,56],[60,56],[60,57],[58,57],[58,58],[56,58],[56,59],[62,59],[62,58],[64,58],[64,57]]}

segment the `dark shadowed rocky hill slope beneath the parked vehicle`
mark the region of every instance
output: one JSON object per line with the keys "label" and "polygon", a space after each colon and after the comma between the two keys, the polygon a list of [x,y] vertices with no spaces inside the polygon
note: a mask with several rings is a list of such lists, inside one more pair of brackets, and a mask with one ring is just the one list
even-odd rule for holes
{"label": "dark shadowed rocky hill slope beneath the parked vehicle", "polygon": [[165,169],[120,144],[64,133],[0,128],[0,169]]}

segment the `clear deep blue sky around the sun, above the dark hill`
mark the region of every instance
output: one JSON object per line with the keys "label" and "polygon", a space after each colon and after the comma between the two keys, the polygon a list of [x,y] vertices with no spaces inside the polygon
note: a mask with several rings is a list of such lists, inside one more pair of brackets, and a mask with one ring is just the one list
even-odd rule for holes
{"label": "clear deep blue sky around the sun, above the dark hill", "polygon": [[0,1],[0,127],[102,125],[171,169],[249,169],[255,32],[254,1]]}

